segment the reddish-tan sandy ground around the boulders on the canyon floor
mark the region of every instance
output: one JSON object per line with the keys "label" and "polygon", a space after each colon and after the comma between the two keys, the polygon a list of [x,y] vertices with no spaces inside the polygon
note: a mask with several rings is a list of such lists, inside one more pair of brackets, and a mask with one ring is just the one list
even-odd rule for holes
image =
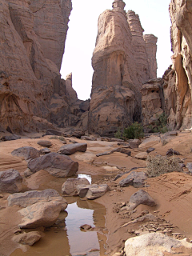
{"label": "reddish-tan sandy ground around the boulders on the canyon floor", "polygon": [[[34,137],[34,134],[30,134],[30,136]],[[50,137],[46,136],[41,139],[49,140]],[[23,176],[27,163],[21,158],[13,157],[11,152],[22,146],[33,146],[40,150],[42,147],[38,146],[38,140],[39,138],[22,138],[11,142],[0,142],[0,171],[14,168]],[[76,138],[66,138],[66,140],[68,143],[70,140],[82,142]],[[150,154],[166,155],[166,151],[173,148],[182,154],[178,157],[185,164],[192,162],[192,134],[190,132],[179,133],[178,136],[169,138],[168,141],[165,146],[162,146],[162,142],[153,145],[155,150]],[[58,139],[51,139],[51,142],[53,143],[53,146],[50,147],[52,152],[57,152],[63,145]],[[107,183],[110,186],[109,192],[102,198],[95,200],[95,202],[106,206],[107,254],[113,255],[115,252],[121,251],[126,239],[135,236],[134,230],[142,229],[143,223],[129,224],[124,227],[123,225],[137,218],[143,210],[148,210],[158,217],[157,226],[166,226],[166,224],[172,226],[171,233],[181,234],[177,238],[192,239],[192,176],[187,173],[186,168],[183,168],[182,173],[174,172],[147,179],[146,188],[143,189],[154,198],[156,206],[140,205],[134,211],[122,211],[121,204],[129,202],[130,196],[139,189],[132,186],[126,188],[118,186],[119,181],[126,178],[128,174],[123,175],[117,181],[114,181],[114,177],[133,167],[146,167],[146,161],[138,160],[134,156],[141,151],[145,152],[150,145],[147,145],[146,148],[130,150],[131,157],[126,156],[126,154],[114,153],[97,158],[96,154],[116,148],[117,142],[86,142],[88,144],[86,153],[76,153],[70,157],[79,162],[78,174],[89,174],[92,176],[93,183]],[[24,179],[22,191],[54,188],[61,194],[62,183],[65,181],[66,178],[54,178],[46,171],[41,170],[30,178]],[[18,206],[7,207],[6,198],[9,194],[0,194],[3,196],[0,198],[0,256],[8,256],[18,248],[18,245],[11,241],[11,238],[18,229],[17,225],[21,222],[21,216],[17,213]]]}

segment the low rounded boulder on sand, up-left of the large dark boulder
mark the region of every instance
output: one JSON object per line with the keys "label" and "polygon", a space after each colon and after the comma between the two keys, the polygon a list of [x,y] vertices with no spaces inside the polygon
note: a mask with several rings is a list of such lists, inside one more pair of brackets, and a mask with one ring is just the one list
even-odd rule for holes
{"label": "low rounded boulder on sand, up-left of the large dark boulder", "polygon": [[22,146],[11,152],[15,157],[24,158],[25,160],[39,158],[40,152],[31,146]]}

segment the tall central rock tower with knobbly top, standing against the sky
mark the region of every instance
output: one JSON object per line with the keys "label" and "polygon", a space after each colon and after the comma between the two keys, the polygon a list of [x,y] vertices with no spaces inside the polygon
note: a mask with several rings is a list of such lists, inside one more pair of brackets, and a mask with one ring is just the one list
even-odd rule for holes
{"label": "tall central rock tower with knobbly top, standing against the sky", "polygon": [[149,62],[154,60],[147,55],[138,15],[126,14],[124,7],[122,0],[114,1],[113,10],[98,18],[89,133],[112,136],[118,128],[140,121],[142,82],[153,78],[150,75],[156,78],[150,72],[150,65],[155,64]]}

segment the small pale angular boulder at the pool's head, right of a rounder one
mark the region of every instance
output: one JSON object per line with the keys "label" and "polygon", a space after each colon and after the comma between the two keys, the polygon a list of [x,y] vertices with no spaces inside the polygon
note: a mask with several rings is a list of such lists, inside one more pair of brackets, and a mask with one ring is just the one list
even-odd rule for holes
{"label": "small pale angular boulder at the pool's head, right of a rounder one", "polygon": [[110,190],[109,186],[107,184],[94,184],[89,187],[89,190],[86,194],[86,198],[93,200],[96,198],[102,197],[102,195],[106,194],[106,192]]}

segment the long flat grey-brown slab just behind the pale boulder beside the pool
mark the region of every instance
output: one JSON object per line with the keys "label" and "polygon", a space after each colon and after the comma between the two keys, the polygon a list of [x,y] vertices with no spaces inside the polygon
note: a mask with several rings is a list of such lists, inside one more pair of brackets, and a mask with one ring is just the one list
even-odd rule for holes
{"label": "long flat grey-brown slab just behind the pale boulder beside the pool", "polygon": [[58,191],[47,189],[47,190],[31,190],[25,193],[15,193],[11,194],[8,198],[8,206],[21,206],[25,208],[27,206],[31,206],[37,202],[61,202],[62,203],[62,210],[66,210],[67,202],[65,198],[62,198]]}

